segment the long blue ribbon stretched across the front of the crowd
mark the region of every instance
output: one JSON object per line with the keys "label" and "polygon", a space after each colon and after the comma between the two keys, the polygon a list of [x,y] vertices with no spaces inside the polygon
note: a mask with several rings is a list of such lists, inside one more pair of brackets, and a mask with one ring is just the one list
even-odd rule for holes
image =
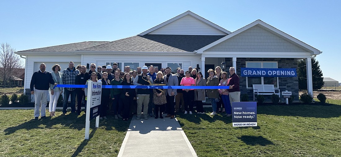
{"label": "long blue ribbon stretched across the front of the crowd", "polygon": [[[57,85],[66,88],[87,88],[88,85]],[[135,86],[135,85],[103,85],[102,88],[143,88],[143,89],[229,89],[229,86]]]}

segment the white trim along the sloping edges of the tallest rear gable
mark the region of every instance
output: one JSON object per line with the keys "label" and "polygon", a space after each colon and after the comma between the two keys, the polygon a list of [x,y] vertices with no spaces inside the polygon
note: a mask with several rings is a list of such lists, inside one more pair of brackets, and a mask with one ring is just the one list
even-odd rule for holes
{"label": "white trim along the sloping edges of the tallest rear gable", "polygon": [[195,18],[196,20],[202,22],[203,24],[206,24],[206,25],[208,25],[209,27],[214,28],[214,29],[216,29],[216,30],[218,30],[218,31],[220,31],[220,32],[222,32],[222,33],[224,33],[224,34],[226,34],[226,35],[228,35],[228,34],[231,33],[230,31],[228,31],[228,30],[226,30],[226,29],[224,29],[224,28],[222,28],[222,27],[220,27],[220,26],[218,26],[218,25],[216,25],[216,24],[210,22],[209,20],[207,20],[207,19],[205,19],[205,18],[203,18],[203,17],[201,17],[201,16],[199,16],[199,15],[197,15],[197,14],[194,14],[194,13],[191,12],[191,11],[187,11],[187,12],[184,12],[184,13],[178,15],[178,16],[173,17],[172,19],[167,20],[166,22],[164,22],[164,23],[162,23],[162,24],[160,24],[160,25],[157,25],[157,26],[155,26],[155,27],[153,27],[153,28],[151,28],[151,29],[148,29],[147,31],[144,31],[144,32],[142,32],[142,33],[140,33],[140,34],[138,34],[138,35],[146,35],[146,34],[149,34],[149,33],[151,33],[152,31],[155,31],[155,30],[157,30],[157,29],[160,29],[160,28],[162,28],[162,27],[164,27],[164,26],[166,26],[166,25],[172,24],[172,23],[175,22],[176,20],[179,20],[179,19],[181,19],[181,18],[183,18],[183,17],[185,17],[185,16],[188,16],[188,15],[191,16],[191,17],[193,17],[193,18]]}

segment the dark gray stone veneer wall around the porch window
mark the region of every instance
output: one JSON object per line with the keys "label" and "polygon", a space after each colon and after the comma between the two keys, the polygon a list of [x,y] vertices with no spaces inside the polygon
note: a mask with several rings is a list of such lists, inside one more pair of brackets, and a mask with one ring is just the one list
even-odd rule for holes
{"label": "dark gray stone veneer wall around the porch window", "polygon": [[[241,76],[240,68],[246,67],[246,61],[277,61],[278,68],[297,68],[297,58],[237,58],[237,75]],[[229,66],[232,64],[232,58],[225,58],[226,72],[228,73]],[[294,100],[298,100],[298,77],[278,77],[280,91],[292,91],[292,95],[295,96]],[[240,77],[239,88],[240,95],[248,94],[249,100],[253,101],[253,89],[246,88],[246,77]],[[271,101],[270,95],[264,95],[266,101]],[[281,95],[281,101],[285,102],[285,99]]]}

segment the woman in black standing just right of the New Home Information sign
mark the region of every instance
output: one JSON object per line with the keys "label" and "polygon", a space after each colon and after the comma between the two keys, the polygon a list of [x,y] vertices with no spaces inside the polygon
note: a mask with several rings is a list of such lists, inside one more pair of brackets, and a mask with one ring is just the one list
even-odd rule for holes
{"label": "woman in black standing just right of the New Home Information sign", "polygon": [[[104,72],[102,74],[102,78],[98,80],[98,82],[102,82],[102,86],[110,85],[110,81],[108,80],[108,73]],[[108,119],[106,117],[106,108],[109,103],[109,99],[110,99],[110,88],[102,88],[100,119]]]}

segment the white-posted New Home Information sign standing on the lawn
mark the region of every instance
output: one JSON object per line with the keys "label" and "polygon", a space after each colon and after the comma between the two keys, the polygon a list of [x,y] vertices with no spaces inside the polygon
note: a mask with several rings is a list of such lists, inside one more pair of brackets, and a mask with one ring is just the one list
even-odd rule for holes
{"label": "white-posted New Home Information sign standing on the lawn", "polygon": [[[89,140],[90,120],[96,118],[96,128],[100,124],[100,104],[102,94],[102,82],[88,81],[88,95],[85,118],[85,139]],[[91,114],[91,115],[90,115]]]}

